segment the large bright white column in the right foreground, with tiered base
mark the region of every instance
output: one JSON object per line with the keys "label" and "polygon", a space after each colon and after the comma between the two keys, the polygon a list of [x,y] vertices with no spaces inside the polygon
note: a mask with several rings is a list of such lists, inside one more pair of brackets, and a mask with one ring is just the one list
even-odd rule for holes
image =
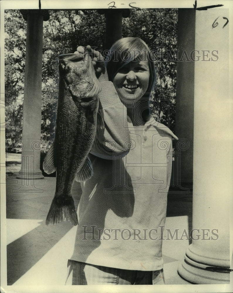
{"label": "large bright white column in the right foreground, with tiered base", "polygon": [[195,19],[195,56],[200,58],[194,78],[193,240],[178,273],[196,284],[227,284],[232,196],[228,10],[196,11]]}

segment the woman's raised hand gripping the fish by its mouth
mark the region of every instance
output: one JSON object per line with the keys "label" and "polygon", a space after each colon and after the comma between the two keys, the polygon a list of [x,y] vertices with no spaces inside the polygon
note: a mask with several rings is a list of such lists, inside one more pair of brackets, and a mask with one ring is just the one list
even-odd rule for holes
{"label": "woman's raised hand gripping the fish by its mouth", "polygon": [[108,81],[108,74],[105,68],[104,59],[100,52],[91,49],[91,46],[88,45],[86,48],[78,46],[77,51],[74,52],[74,54],[80,53],[84,56],[88,54],[91,57],[96,72],[96,77],[99,79],[99,81]]}

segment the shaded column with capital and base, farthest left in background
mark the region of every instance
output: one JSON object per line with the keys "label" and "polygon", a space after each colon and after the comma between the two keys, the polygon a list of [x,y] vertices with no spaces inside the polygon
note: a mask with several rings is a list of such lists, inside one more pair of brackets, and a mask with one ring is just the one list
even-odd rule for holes
{"label": "shaded column with capital and base, farthest left in background", "polygon": [[30,180],[22,186],[34,186],[34,179],[44,178],[40,170],[42,44],[44,10],[21,10],[27,20],[21,170],[17,178]]}

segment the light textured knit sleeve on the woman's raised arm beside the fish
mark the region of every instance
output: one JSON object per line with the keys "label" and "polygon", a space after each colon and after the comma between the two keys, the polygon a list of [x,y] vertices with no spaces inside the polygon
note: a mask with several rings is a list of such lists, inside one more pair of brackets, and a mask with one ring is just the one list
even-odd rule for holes
{"label": "light textured knit sleeve on the woman's raised arm beside the fish", "polygon": [[114,154],[126,155],[129,152],[127,142],[130,133],[127,127],[126,107],[121,103],[111,81],[101,83],[99,93],[99,111],[104,121],[104,127],[97,124],[96,138],[91,148],[91,154],[103,159],[112,159]]}

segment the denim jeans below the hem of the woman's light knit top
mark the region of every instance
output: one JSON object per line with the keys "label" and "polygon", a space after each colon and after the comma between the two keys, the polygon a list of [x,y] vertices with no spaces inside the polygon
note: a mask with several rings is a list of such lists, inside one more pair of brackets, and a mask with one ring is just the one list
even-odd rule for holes
{"label": "denim jeans below the hem of the woman's light knit top", "polygon": [[164,285],[163,270],[137,271],[68,261],[66,285]]}

